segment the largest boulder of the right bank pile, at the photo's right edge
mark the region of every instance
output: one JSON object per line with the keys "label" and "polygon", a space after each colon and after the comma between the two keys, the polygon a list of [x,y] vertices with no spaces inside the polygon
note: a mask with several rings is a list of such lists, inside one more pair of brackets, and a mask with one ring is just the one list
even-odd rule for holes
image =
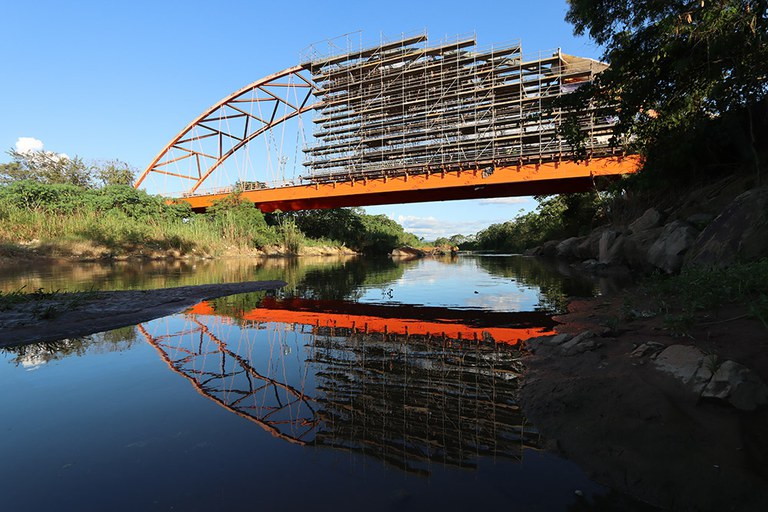
{"label": "largest boulder of the right bank pile, at the photo's right edge", "polygon": [[699,234],[686,266],[725,266],[768,255],[768,188],[744,192]]}

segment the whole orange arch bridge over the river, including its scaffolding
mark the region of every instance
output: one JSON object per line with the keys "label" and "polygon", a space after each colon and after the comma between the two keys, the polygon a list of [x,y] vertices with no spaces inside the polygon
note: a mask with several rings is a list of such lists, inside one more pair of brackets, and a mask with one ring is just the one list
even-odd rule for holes
{"label": "whole orange arch bridge over the river, including its scaffolding", "polygon": [[557,101],[606,67],[474,37],[312,49],[204,111],[135,186],[196,210],[239,193],[264,212],[588,190],[639,165],[611,144],[614,118],[589,108],[574,125]]}

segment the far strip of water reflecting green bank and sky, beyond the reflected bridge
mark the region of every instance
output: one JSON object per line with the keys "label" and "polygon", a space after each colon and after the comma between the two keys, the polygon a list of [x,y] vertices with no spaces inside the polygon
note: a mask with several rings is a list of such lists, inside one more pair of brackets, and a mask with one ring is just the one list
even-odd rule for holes
{"label": "far strip of water reflecting green bank and sky, beyond the reflected bridge", "polygon": [[275,279],[288,283],[282,290],[286,297],[497,311],[562,311],[569,296],[613,286],[606,279],[578,275],[567,264],[468,255],[404,262],[356,257],[36,262],[4,265],[0,291],[149,289]]}

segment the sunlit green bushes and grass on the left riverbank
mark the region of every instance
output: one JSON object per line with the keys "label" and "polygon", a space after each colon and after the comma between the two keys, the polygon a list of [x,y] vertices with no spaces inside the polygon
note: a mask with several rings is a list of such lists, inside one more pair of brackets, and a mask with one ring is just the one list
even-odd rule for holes
{"label": "sunlit green bushes and grass on the left riverbank", "polygon": [[214,256],[269,246],[298,254],[307,245],[388,252],[417,242],[402,226],[359,209],[264,216],[233,194],[205,214],[133,189],[117,161],[86,165],[55,153],[10,152],[0,164],[0,251],[23,256]]}

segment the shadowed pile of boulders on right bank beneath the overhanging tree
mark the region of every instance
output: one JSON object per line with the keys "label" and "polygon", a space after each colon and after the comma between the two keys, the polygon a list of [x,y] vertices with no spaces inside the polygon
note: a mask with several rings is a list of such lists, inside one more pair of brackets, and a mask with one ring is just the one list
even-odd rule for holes
{"label": "shadowed pile of boulders on right bank beneath the overhanging tree", "polygon": [[[744,192],[728,204],[737,184],[719,184],[714,191],[705,187],[706,194],[691,192],[697,199],[689,198],[676,210],[649,208],[626,226],[601,226],[586,236],[550,241],[526,254],[581,260],[584,263],[576,265],[597,273],[625,267],[673,274],[683,266],[757,260],[768,256],[768,188]],[[715,216],[712,211],[723,204],[728,205]]]}

